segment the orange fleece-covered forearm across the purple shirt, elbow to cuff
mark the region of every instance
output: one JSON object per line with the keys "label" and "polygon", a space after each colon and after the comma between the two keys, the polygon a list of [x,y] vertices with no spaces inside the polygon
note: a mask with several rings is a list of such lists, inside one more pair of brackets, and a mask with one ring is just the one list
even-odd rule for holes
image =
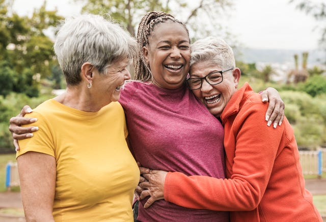
{"label": "orange fleece-covered forearm across the purple shirt, elbow to cuff", "polygon": [[217,211],[255,209],[262,193],[247,181],[168,173],[164,198],[179,206]]}

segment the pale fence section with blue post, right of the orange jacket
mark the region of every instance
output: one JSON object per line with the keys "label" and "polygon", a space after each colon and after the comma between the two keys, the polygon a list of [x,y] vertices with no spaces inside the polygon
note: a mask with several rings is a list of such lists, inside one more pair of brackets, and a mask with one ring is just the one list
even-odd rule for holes
{"label": "pale fence section with blue post, right of the orange jacket", "polygon": [[318,175],[326,172],[326,148],[319,148],[316,151],[299,151],[300,163],[304,175]]}

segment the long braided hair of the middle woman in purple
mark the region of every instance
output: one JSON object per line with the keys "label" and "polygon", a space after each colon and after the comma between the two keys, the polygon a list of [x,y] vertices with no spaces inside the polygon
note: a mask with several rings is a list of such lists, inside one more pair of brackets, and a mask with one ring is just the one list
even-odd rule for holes
{"label": "long braided hair of the middle woman in purple", "polygon": [[189,32],[186,26],[181,21],[177,20],[176,18],[174,18],[172,15],[168,13],[152,11],[144,15],[141,22],[139,23],[138,31],[137,31],[137,42],[140,50],[139,50],[138,61],[137,63],[135,63],[135,75],[134,75],[135,80],[151,81],[153,79],[153,75],[151,73],[149,64],[146,63],[143,47],[148,44],[148,37],[150,36],[151,32],[154,30],[155,25],[159,23],[164,23],[167,20],[171,20],[173,22],[182,24],[189,36]]}

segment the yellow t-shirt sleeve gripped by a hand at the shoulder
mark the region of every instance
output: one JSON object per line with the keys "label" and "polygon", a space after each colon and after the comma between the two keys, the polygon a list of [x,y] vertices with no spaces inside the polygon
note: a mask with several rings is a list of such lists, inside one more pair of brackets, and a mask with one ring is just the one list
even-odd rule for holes
{"label": "yellow t-shirt sleeve gripped by a hand at the shoulder", "polygon": [[24,126],[38,126],[39,130],[33,132],[33,137],[19,140],[20,150],[17,151],[16,157],[30,151],[40,152],[55,157],[55,147],[53,145],[53,136],[51,127],[45,117],[37,112],[26,114],[25,117],[37,118],[35,123]]}

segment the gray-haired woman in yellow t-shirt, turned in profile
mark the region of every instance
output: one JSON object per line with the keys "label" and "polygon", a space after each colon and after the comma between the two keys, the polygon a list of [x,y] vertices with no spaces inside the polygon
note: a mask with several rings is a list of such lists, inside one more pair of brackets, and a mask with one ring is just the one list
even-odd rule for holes
{"label": "gray-haired woman in yellow t-shirt, turned in profile", "polygon": [[26,117],[39,130],[19,141],[21,197],[27,221],[131,221],[139,169],[118,103],[138,45],[96,15],[66,19],[55,52],[67,89]]}

